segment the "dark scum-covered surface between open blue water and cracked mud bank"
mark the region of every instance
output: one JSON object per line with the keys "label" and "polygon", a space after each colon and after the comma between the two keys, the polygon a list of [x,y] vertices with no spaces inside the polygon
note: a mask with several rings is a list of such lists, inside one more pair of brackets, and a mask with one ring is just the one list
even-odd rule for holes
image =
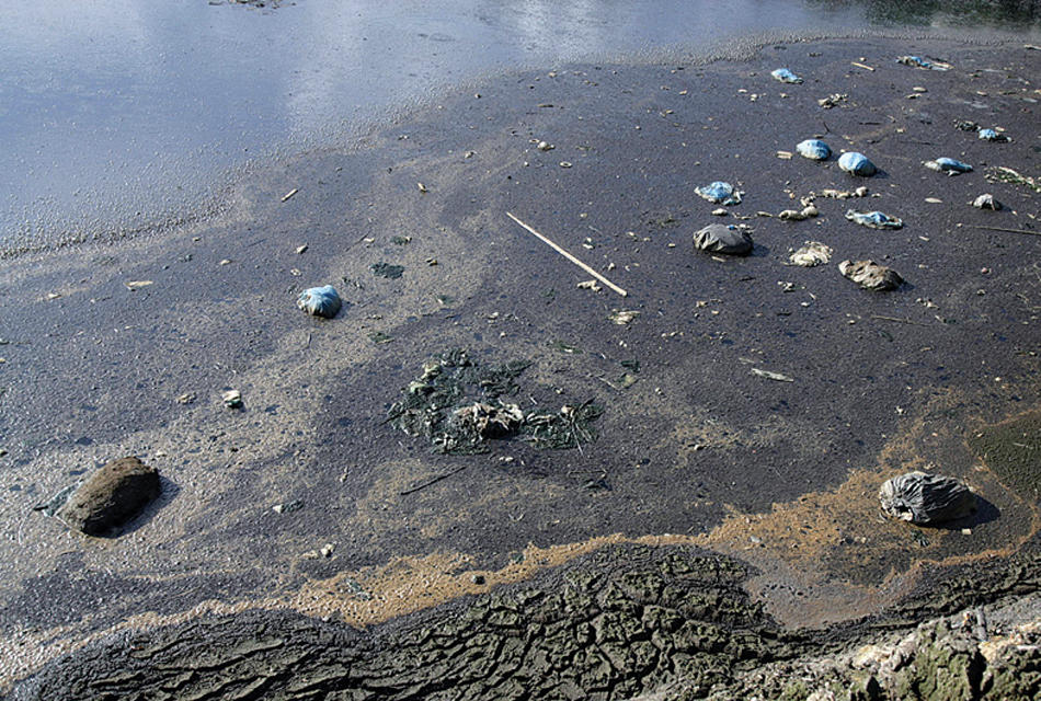
{"label": "dark scum-covered surface between open blue water and cracked mud bank", "polygon": [[[0,366],[8,390],[0,400],[8,412],[4,432],[9,441],[13,436],[21,444],[3,446],[9,452],[0,458],[8,469],[4,486],[19,486],[9,494],[27,508],[30,501],[61,486],[59,468],[84,469],[116,453],[140,455],[169,480],[158,508],[112,541],[80,540],[31,512],[7,517],[13,556],[4,577],[21,581],[23,589],[4,601],[5,635],[18,635],[24,621],[55,643],[72,641],[104,631],[135,610],[176,616],[215,598],[207,596],[213,591],[219,593],[218,601],[249,608],[258,593],[306,594],[309,586],[342,583],[402,555],[456,553],[466,570],[453,576],[492,573],[507,568],[503,565],[512,553],[528,547],[537,552],[605,533],[679,532],[687,526],[708,532],[728,518],[751,524],[757,515],[776,514],[775,504],[798,505],[808,496],[812,508],[797,506],[794,520],[786,521],[782,508],[774,530],[762,527],[773,539],[764,547],[808,548],[819,555],[792,562],[820,561],[823,584],[845,579],[871,587],[884,581],[886,567],[899,573],[923,559],[942,561],[963,552],[963,543],[953,539],[957,533],[936,533],[928,539],[927,555],[907,552],[910,545],[901,541],[906,529],[876,524],[863,526],[872,545],[849,554],[836,538],[855,539],[859,532],[782,533],[798,533],[805,527],[799,519],[813,519],[815,508],[822,509],[822,524],[839,522],[846,506],[839,485],[858,470],[888,476],[935,461],[970,479],[1000,513],[971,525],[972,550],[1036,541],[1036,529],[1022,522],[1037,518],[1036,501],[1017,496],[993,471],[973,472],[975,458],[964,445],[970,427],[1041,406],[1036,360],[1021,355],[1029,349],[1034,302],[1028,299],[1015,312],[991,302],[995,296],[1016,299],[1016,290],[1029,298],[1037,289],[1027,265],[1030,244],[1027,237],[985,233],[980,240],[991,246],[993,261],[981,264],[973,241],[960,237],[964,228],[954,225],[981,216],[961,204],[966,197],[961,191],[970,183],[991,188],[1016,211],[1030,211],[1037,195],[985,183],[983,166],[975,174],[939,180],[913,162],[949,148],[954,154],[969,151],[976,162],[982,158],[987,165],[1027,172],[1037,157],[1017,149],[1032,145],[1029,115],[1036,107],[1014,103],[1016,95],[983,82],[1005,79],[986,72],[993,57],[981,47],[934,39],[919,44],[946,46],[957,55],[954,74],[889,66],[882,60],[896,42],[851,39],[763,47],[750,62],[682,71],[572,66],[553,77],[526,73],[523,83],[516,77],[491,81],[480,99],[460,92],[445,101],[444,111],[414,114],[374,135],[367,150],[311,153],[243,183],[237,205],[216,221],[162,238],[5,262],[12,264],[3,273],[8,288],[24,290],[20,299],[0,300],[5,319],[0,336],[9,341],[0,347],[7,360]],[[817,50],[821,55],[812,56]],[[876,70],[848,67],[847,54],[863,62],[861,54],[869,50]],[[1037,65],[1030,54],[1005,47],[1002,68],[1016,74],[1010,61]],[[788,87],[769,79],[764,69],[792,58],[805,65],[820,58],[824,65],[813,69],[812,79],[820,82]],[[969,76],[965,61],[980,72]],[[876,104],[871,91],[883,89],[883,76],[901,84]],[[912,84],[923,82],[930,83],[925,92],[913,101],[905,97],[914,94]],[[843,84],[849,85],[854,104],[815,107],[817,97]],[[680,87],[690,101],[679,95]],[[950,102],[956,95],[968,100],[976,90],[987,92],[988,102],[1026,110],[988,107],[987,114],[1000,115],[994,118],[1013,134],[1011,143],[980,145],[949,126],[956,113],[980,112]],[[756,133],[753,143],[742,140],[747,124],[763,118],[764,107],[777,125],[774,134]],[[868,118],[854,118],[856,111]],[[923,112],[931,113],[930,122],[920,119]],[[899,211],[908,223],[906,235],[857,231],[843,221],[846,203],[821,200],[823,216],[813,222],[735,220],[756,229],[758,252],[746,261],[717,263],[691,253],[690,233],[716,219],[709,215],[712,206],[691,193],[701,181],[736,180],[748,194],[746,205],[734,209],[751,217],[760,209],[779,210],[811,188],[848,183],[834,161],[814,169],[819,164],[798,157],[787,162],[775,157],[803,138],[797,135],[819,128],[816,123],[805,128],[805,114],[823,119],[833,148],[879,154],[886,177],[865,181],[881,194],[869,203]],[[893,122],[873,124],[885,115]],[[732,125],[728,117],[747,122]],[[920,149],[920,157],[904,156],[904,149],[918,149],[905,139],[934,134],[929,138],[937,143]],[[557,146],[545,154],[531,145],[544,135]],[[688,156],[687,149],[694,152]],[[465,157],[470,150],[474,156]],[[992,162],[998,156],[1002,160]],[[744,164],[748,158],[759,160],[750,166]],[[568,159],[574,166],[560,168]],[[786,180],[790,192],[780,185]],[[416,191],[416,182],[428,192]],[[283,202],[291,188],[299,192]],[[926,195],[942,199],[942,206],[924,203]],[[573,289],[575,272],[502,221],[501,210],[507,209],[567,239],[567,248],[602,269],[617,261],[617,272],[608,275],[624,280],[631,297]],[[994,214],[996,226],[1037,227],[1028,217]],[[390,242],[401,232],[411,241]],[[832,269],[782,267],[786,248],[819,237],[827,237],[842,255],[890,256],[913,287],[872,297],[847,287]],[[586,239],[592,249],[583,246]],[[940,250],[929,245],[933,239]],[[308,251],[296,253],[302,244]],[[436,266],[425,263],[435,257]],[[220,265],[225,260],[229,263]],[[379,260],[405,265],[405,276],[400,281],[373,277],[367,267]],[[993,273],[962,279],[981,265]],[[296,268],[302,268],[299,276],[291,273]],[[798,299],[775,285],[775,278],[786,277]],[[329,322],[301,319],[293,295],[284,291],[338,279],[350,304]],[[153,281],[130,291],[127,280]],[[554,292],[545,301],[539,292],[548,289]],[[434,292],[460,301],[442,303]],[[48,294],[60,297],[48,301]],[[937,313],[916,298],[935,299],[940,321],[934,322]],[[641,318],[631,326],[611,327],[606,317],[619,304],[639,309]],[[915,324],[879,321],[886,317]],[[91,333],[88,324],[111,331]],[[995,327],[1005,341],[987,336]],[[393,341],[374,343],[374,333]],[[986,378],[969,359],[959,359],[963,333],[991,364]],[[791,334],[790,341],[783,334]],[[848,334],[858,337],[851,341]],[[984,353],[979,345],[984,338],[997,345]],[[582,346],[582,353],[547,349],[554,341]],[[47,357],[36,353],[41,343]],[[68,350],[60,349],[62,344]],[[929,350],[919,350],[923,344]],[[556,390],[569,401],[590,395],[605,401],[614,411],[602,420],[600,440],[581,456],[506,445],[489,460],[428,456],[411,438],[392,435],[382,426],[382,413],[396,388],[408,383],[432,348],[454,345],[476,346],[499,360],[536,359],[524,379],[538,402],[558,401]],[[922,354],[920,359],[908,363],[891,346],[908,357]],[[872,348],[878,355],[860,355]],[[937,355],[939,371],[931,360]],[[638,383],[605,389],[603,378],[632,356],[641,359]],[[798,387],[747,379],[750,364],[742,358],[791,374]],[[858,363],[884,381],[843,379]],[[39,371],[12,381],[19,367]],[[243,390],[245,412],[231,414],[219,404],[225,387]],[[175,400],[185,392],[196,400],[179,405]],[[773,404],[764,406],[759,397]],[[7,402],[21,407],[18,416]],[[39,415],[53,416],[66,433],[56,437],[34,424]],[[876,435],[861,435],[862,426]],[[513,461],[500,461],[504,456]],[[462,461],[473,467],[458,479],[411,499],[401,495]],[[582,470],[603,471],[609,487],[587,490]],[[863,491],[872,480],[862,483]],[[672,494],[670,485],[677,481],[700,485],[693,503]],[[270,507],[296,493],[305,509],[274,520]],[[828,503],[826,494],[839,496]],[[865,499],[854,510],[861,520],[847,528],[856,531],[861,527],[854,524],[874,510],[873,495],[850,494]],[[330,524],[327,514],[342,521]],[[554,519],[567,522],[552,525]],[[729,533],[730,554],[740,553],[739,530],[720,532]],[[763,542],[756,532],[752,536]],[[333,558],[304,556],[323,542],[335,543]],[[708,542],[719,548],[723,541]],[[267,565],[258,571],[255,563]],[[102,572],[115,574],[105,582],[99,579]],[[416,572],[422,575],[422,568]],[[72,582],[82,584],[70,587]],[[488,582],[484,589],[494,583]],[[66,607],[60,616],[78,621],[66,629],[47,607],[77,587],[88,597],[114,595],[115,618],[92,621],[76,606]],[[775,597],[775,606],[798,611],[794,599],[778,604],[783,593],[769,593],[768,586],[758,591],[763,600]],[[783,618],[780,609],[771,616]]]}

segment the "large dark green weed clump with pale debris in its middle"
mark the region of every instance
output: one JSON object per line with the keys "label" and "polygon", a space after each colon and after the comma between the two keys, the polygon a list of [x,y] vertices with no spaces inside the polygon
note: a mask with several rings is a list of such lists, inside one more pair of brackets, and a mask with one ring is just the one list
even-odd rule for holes
{"label": "large dark green weed clump with pale debris in its middle", "polygon": [[527,414],[508,398],[520,391],[517,378],[531,364],[511,360],[484,365],[455,349],[423,364],[402,399],[387,412],[390,424],[430,440],[434,452],[489,451],[489,440],[520,436],[537,448],[569,449],[596,440],[593,423],[603,407],[592,401],[557,412]]}

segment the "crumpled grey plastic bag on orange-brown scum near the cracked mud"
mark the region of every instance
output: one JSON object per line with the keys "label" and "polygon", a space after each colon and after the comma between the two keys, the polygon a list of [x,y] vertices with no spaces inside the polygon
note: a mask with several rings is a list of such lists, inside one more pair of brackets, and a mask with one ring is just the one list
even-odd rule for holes
{"label": "crumpled grey plastic bag on orange-brown scum near the cracked mud", "polygon": [[976,510],[976,495],[956,480],[927,472],[907,472],[882,483],[882,510],[912,524],[939,524]]}

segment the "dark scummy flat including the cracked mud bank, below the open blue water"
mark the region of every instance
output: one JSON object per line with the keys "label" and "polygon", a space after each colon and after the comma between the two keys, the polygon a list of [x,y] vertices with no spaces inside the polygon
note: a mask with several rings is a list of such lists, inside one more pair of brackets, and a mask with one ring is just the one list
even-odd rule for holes
{"label": "dark scummy flat including the cracked mud bank, below the open blue water", "polygon": [[[748,54],[497,78],[242,183],[219,219],[4,261],[16,697],[698,698],[1036,590],[1039,194],[988,169],[1041,171],[1041,51]],[[811,137],[881,172],[779,157]],[[974,170],[923,165],[942,156]],[[725,216],[694,192],[713,181],[744,192]],[[969,205],[985,192],[1004,208]],[[811,193],[816,217],[776,216]],[[628,295],[579,287],[506,211]],[[752,254],[695,252],[713,222],[750,226]],[[807,240],[832,262],[788,265]],[[905,283],[859,289],[843,258]],[[296,309],[324,284],[336,318]],[[526,411],[603,406],[597,439],[464,456],[394,429],[390,406],[454,348],[529,364],[508,400]],[[163,478],[125,535],[32,512],[122,455]],[[968,482],[976,514],[880,519],[879,484],[912,469]],[[123,676],[101,673],[113,658]]]}

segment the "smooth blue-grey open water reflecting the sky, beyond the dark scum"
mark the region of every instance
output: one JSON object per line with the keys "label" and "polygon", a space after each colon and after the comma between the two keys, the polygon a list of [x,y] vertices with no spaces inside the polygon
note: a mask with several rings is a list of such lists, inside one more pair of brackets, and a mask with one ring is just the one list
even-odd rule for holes
{"label": "smooth blue-grey open water reflecting the sky, beyond the dark scum", "polygon": [[4,3],[0,253],[204,212],[252,159],[350,143],[439,85],[518,66],[702,53],[767,31],[1041,25],[1029,2],[982,19],[959,3],[903,4]]}

